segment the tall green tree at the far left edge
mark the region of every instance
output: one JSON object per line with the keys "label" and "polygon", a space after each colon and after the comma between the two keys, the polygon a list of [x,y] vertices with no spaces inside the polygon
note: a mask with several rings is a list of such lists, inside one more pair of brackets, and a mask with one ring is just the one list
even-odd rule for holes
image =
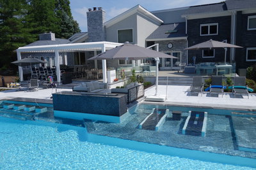
{"label": "tall green tree at the far left edge", "polygon": [[35,41],[25,27],[27,8],[26,0],[0,0],[0,67],[12,66],[14,50]]}

